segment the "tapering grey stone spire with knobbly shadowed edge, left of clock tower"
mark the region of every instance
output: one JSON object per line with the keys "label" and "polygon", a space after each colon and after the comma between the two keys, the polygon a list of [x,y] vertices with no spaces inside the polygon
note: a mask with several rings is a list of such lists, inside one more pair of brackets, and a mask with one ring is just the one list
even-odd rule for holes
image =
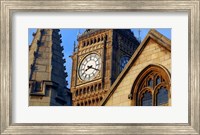
{"label": "tapering grey stone spire with knobbly shadowed edge, left of clock tower", "polygon": [[37,29],[29,46],[29,105],[70,105],[59,29]]}

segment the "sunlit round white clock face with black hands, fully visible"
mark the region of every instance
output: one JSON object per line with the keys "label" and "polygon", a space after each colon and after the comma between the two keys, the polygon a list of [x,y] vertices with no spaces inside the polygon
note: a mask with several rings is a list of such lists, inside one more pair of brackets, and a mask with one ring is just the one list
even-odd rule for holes
{"label": "sunlit round white clock face with black hands, fully visible", "polygon": [[79,76],[84,81],[94,79],[100,72],[101,58],[98,54],[87,55],[79,66]]}

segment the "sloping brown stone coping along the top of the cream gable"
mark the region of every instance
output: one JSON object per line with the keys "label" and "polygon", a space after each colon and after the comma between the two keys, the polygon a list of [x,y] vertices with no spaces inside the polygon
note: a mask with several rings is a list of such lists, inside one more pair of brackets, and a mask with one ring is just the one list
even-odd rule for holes
{"label": "sloping brown stone coping along the top of the cream gable", "polygon": [[133,65],[133,63],[136,61],[138,56],[141,54],[141,52],[145,48],[145,46],[150,38],[153,39],[155,42],[159,43],[159,45],[164,47],[166,50],[171,52],[171,40],[168,39],[167,37],[165,37],[164,35],[160,34],[159,32],[157,32],[155,29],[151,29],[148,32],[148,34],[146,35],[146,37],[144,38],[144,40],[141,42],[141,44],[138,46],[138,48],[132,55],[131,59],[129,60],[129,62],[126,64],[125,68],[122,70],[122,72],[119,74],[119,76],[117,77],[115,82],[112,84],[112,86],[111,86],[110,90],[108,91],[108,93],[106,94],[105,98],[103,98],[103,100],[100,102],[101,106],[103,106],[107,103],[108,99],[112,96],[115,89],[121,82],[122,78],[127,74],[131,65]]}

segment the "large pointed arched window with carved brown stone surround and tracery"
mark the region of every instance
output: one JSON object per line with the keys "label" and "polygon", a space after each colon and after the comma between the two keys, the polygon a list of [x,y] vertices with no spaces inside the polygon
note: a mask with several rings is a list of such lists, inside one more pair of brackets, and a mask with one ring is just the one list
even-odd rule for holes
{"label": "large pointed arched window with carved brown stone surround and tracery", "polygon": [[170,74],[160,65],[149,65],[135,79],[131,90],[133,105],[170,105]]}

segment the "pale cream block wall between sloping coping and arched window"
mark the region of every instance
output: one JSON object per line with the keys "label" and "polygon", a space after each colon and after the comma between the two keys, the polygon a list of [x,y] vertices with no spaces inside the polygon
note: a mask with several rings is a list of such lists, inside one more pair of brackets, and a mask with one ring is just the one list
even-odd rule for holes
{"label": "pale cream block wall between sloping coping and arched window", "polygon": [[[162,37],[159,35],[159,37]],[[162,37],[163,38],[163,37]],[[169,41],[167,40],[167,43]],[[171,51],[165,49],[156,41],[150,39],[147,41],[145,48],[139,54],[132,65],[129,65],[129,70],[126,75],[121,78],[118,86],[113,89],[114,93],[105,102],[106,106],[130,106],[135,101],[128,99],[128,96],[136,81],[136,77],[141,71],[150,64],[162,65],[171,73]],[[168,99],[167,105],[171,103],[171,97]]]}

